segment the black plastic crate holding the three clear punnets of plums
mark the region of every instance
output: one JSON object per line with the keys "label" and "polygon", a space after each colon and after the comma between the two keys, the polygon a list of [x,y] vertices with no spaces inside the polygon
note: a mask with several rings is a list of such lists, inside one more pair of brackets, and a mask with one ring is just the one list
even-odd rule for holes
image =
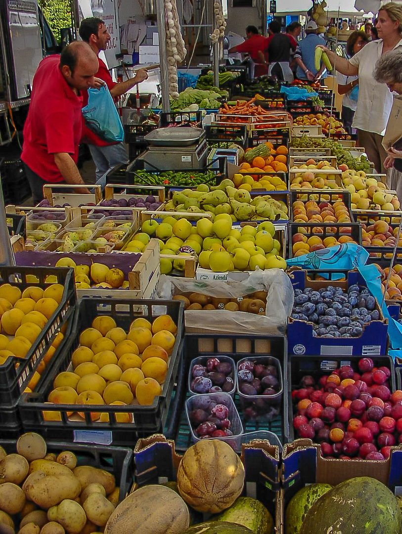
{"label": "black plastic crate holding the three clear punnets of plums", "polygon": [[[240,334],[186,334],[183,347],[183,370],[180,371],[182,373],[184,387],[176,390],[175,403],[177,402],[178,409],[172,414],[172,418],[169,418],[169,426],[165,428],[165,433],[171,439],[175,439],[177,450],[184,451],[193,445],[185,414],[185,401],[190,397],[190,393],[187,390],[187,378],[188,373],[190,372],[191,360],[199,356],[216,356],[219,358],[219,355],[229,356],[234,359],[235,363],[242,358],[249,357],[250,359],[253,359],[253,356],[274,356],[279,359],[281,364],[283,372],[283,390],[287,391],[286,337],[253,336],[250,338],[250,336]],[[281,413],[270,422],[246,421],[242,417],[240,400],[237,394],[235,395],[234,402],[239,411],[245,433],[265,430],[275,434],[281,444],[288,442],[289,426],[287,421],[287,395],[283,395],[282,397]]]}

